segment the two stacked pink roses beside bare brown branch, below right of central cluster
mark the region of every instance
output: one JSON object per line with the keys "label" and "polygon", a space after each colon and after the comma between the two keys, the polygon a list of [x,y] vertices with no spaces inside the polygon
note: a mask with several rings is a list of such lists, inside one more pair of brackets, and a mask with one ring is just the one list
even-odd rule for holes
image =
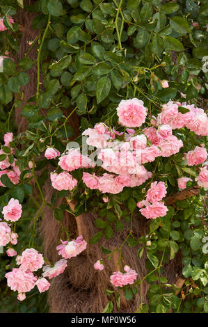
{"label": "two stacked pink roses beside bare brown branch, below right of central cluster", "polygon": [[[137,203],[137,207],[141,208],[141,214],[147,219],[166,216],[168,208],[161,201],[166,196],[166,193],[164,182],[153,182],[147,191],[146,200]],[[145,208],[143,208],[144,206]]]}

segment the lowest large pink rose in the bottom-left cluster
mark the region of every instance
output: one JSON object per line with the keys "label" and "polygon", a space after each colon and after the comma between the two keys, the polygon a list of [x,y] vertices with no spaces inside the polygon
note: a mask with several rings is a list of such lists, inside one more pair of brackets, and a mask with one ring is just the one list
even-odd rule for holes
{"label": "lowest large pink rose in the bottom-left cluster", "polygon": [[18,293],[30,292],[35,287],[37,277],[31,271],[22,271],[19,268],[13,268],[13,271],[6,273],[8,287]]}

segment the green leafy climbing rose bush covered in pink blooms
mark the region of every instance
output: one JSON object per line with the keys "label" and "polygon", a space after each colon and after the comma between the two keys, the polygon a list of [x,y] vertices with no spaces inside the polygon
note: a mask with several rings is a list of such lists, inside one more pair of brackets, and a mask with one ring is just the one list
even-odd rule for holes
{"label": "green leafy climbing rose bush covered in pink blooms", "polygon": [[[118,255],[99,312],[119,311],[138,294],[136,312],[208,312],[207,1],[3,2],[2,280],[27,301],[99,242],[102,259],[90,264],[100,278]],[[32,36],[22,13],[32,17]],[[60,224],[56,262],[38,233],[45,207]],[[86,212],[98,215],[88,242],[78,223],[75,238],[63,224],[65,213]],[[141,237],[138,218],[149,222]],[[102,245],[126,229],[117,248]],[[127,264],[127,244],[136,260],[146,258],[141,279]],[[165,265],[178,253],[181,276],[169,284]]]}

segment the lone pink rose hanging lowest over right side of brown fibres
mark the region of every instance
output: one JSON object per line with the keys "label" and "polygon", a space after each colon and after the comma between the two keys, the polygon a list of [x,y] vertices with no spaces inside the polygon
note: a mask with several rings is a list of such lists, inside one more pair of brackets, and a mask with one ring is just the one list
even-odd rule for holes
{"label": "lone pink rose hanging lowest over right side of brown fibres", "polygon": [[121,273],[120,271],[115,271],[111,276],[111,283],[115,287],[123,287],[128,284],[134,284],[134,280],[136,280],[137,273],[134,269],[129,268],[129,266],[125,266],[125,273]]}

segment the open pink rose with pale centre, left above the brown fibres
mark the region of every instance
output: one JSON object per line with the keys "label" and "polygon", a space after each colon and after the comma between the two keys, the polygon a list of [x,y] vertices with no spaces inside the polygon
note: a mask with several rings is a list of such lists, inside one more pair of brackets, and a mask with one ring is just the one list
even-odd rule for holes
{"label": "open pink rose with pale centre, left above the brown fibres", "polygon": [[61,243],[59,246],[56,246],[56,250],[58,250],[58,255],[62,255],[65,259],[77,257],[87,247],[87,242],[83,239],[82,235],[79,235],[77,239],[73,239],[72,241],[61,241]]}

